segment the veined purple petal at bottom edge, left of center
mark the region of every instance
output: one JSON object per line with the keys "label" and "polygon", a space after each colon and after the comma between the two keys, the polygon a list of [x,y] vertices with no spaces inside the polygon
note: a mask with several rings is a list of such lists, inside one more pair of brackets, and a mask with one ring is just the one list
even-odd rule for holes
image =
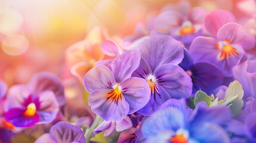
{"label": "veined purple petal at bottom edge, left of center", "polygon": [[50,134],[58,142],[70,143],[81,142],[85,143],[84,132],[78,127],[65,122],[58,122],[50,129]]}

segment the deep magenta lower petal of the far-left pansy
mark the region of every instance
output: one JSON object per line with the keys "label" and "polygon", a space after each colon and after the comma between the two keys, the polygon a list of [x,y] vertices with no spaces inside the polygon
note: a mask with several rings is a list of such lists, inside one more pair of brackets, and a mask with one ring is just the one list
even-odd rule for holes
{"label": "deep magenta lower petal of the far-left pansy", "polygon": [[38,113],[35,113],[33,117],[26,117],[24,111],[26,111],[26,108],[11,108],[5,113],[5,120],[17,127],[31,127],[38,123]]}

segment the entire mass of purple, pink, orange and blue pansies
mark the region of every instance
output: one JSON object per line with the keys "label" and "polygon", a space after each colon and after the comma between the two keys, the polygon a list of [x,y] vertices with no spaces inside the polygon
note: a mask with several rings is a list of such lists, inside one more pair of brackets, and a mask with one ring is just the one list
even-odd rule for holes
{"label": "entire mass of purple, pink, orange and blue pansies", "polygon": [[0,80],[0,142],[256,142],[249,4],[166,4],[133,35],[92,26],[58,76]]}

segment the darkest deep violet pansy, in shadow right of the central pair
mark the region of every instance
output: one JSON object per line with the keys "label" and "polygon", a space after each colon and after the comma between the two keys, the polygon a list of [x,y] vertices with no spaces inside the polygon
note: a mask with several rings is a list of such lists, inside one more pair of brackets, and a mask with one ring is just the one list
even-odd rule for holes
{"label": "darkest deep violet pansy, in shadow right of the central pair", "polygon": [[223,83],[223,73],[214,64],[199,62],[194,64],[189,51],[184,49],[184,58],[178,64],[192,79],[193,94],[202,90],[208,94]]}

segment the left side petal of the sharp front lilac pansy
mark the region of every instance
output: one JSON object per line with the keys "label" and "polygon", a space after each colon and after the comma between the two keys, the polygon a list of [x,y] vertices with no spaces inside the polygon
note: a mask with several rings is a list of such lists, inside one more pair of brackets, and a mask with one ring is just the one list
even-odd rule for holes
{"label": "left side petal of the sharp front lilac pansy", "polygon": [[96,89],[110,89],[116,82],[112,72],[106,66],[99,65],[85,74],[84,85],[91,93]]}

